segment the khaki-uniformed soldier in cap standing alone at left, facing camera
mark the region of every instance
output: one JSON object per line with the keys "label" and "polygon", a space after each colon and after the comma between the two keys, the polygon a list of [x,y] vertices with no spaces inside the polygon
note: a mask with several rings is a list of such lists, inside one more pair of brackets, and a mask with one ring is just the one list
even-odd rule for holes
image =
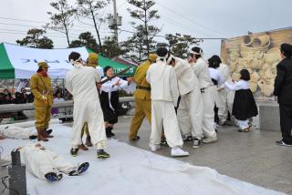
{"label": "khaki-uniformed soldier in cap standing alone at left, facing camera", "polygon": [[35,118],[38,141],[48,141],[53,138],[47,134],[53,104],[53,87],[51,78],[47,75],[47,62],[38,62],[36,74],[30,78],[29,86],[34,94]]}

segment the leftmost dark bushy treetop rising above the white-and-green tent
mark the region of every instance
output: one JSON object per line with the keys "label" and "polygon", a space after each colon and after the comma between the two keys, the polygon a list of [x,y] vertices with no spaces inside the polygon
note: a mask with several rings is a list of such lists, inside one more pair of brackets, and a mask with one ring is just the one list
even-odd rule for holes
{"label": "leftmost dark bushy treetop rising above the white-and-green tent", "polygon": [[49,39],[46,34],[46,30],[32,28],[27,31],[27,36],[22,40],[16,40],[16,43],[20,46],[29,46],[36,48],[53,48],[53,41]]}

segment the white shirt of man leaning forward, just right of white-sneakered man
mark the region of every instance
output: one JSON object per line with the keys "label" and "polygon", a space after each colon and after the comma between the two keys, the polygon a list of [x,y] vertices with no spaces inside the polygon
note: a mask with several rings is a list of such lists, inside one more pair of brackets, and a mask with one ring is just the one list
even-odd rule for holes
{"label": "white shirt of man leaning forward, just right of white-sneakered man", "polygon": [[187,61],[175,57],[174,71],[181,95],[191,92],[195,87],[199,87],[198,78],[194,75],[193,69]]}

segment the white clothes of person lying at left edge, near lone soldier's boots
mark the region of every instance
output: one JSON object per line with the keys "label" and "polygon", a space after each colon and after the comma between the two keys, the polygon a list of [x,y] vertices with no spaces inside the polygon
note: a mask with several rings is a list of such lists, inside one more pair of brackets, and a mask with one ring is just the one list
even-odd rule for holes
{"label": "white clothes of person lying at left edge, near lone soldier's boots", "polygon": [[19,128],[16,126],[0,127],[0,135],[7,139],[29,139],[30,136],[36,135],[36,128]]}

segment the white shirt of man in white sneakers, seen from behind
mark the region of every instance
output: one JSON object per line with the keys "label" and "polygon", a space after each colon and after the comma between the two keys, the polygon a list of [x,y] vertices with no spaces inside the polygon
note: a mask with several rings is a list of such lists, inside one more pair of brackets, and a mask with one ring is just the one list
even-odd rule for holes
{"label": "white shirt of man in white sneakers, seen from behind", "polygon": [[172,101],[177,107],[180,92],[173,67],[159,60],[148,68],[146,80],[151,85],[151,100]]}

